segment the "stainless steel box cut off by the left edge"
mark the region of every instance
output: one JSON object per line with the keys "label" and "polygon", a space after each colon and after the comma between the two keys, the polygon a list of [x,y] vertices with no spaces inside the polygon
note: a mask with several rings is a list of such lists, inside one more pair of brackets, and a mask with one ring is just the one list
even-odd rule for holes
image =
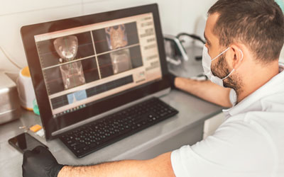
{"label": "stainless steel box cut off by the left edge", "polygon": [[15,82],[9,76],[0,73],[0,124],[21,117],[21,105]]}

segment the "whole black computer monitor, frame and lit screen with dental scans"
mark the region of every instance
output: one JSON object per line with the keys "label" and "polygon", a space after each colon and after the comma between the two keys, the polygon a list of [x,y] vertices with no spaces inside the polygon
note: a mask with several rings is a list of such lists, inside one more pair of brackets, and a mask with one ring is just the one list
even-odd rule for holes
{"label": "whole black computer monitor, frame and lit screen with dental scans", "polygon": [[157,4],[26,25],[21,36],[48,140],[169,91]]}

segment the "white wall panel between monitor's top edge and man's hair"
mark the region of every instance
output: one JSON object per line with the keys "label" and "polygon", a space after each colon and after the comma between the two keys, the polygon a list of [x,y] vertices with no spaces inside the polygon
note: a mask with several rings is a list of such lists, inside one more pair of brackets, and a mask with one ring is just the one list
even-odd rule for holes
{"label": "white wall panel between monitor's top edge and man's hair", "polygon": [[180,32],[194,33],[197,18],[206,16],[207,10],[217,0],[201,2],[188,0],[83,0],[84,14],[111,11],[118,8],[158,3],[163,33],[176,35]]}

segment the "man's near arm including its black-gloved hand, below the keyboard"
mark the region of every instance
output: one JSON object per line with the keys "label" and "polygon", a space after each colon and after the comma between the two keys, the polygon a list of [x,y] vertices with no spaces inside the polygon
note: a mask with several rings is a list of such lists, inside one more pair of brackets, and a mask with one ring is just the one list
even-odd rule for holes
{"label": "man's near arm including its black-gloved hand, below the keyboard", "polygon": [[171,152],[154,159],[114,161],[94,166],[63,166],[45,147],[35,147],[23,154],[23,177],[92,177],[92,176],[175,176]]}

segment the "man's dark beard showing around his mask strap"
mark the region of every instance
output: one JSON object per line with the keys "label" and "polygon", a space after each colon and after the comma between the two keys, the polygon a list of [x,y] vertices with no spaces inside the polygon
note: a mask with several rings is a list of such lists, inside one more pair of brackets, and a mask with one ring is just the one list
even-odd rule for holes
{"label": "man's dark beard showing around his mask strap", "polygon": [[[211,71],[214,76],[220,79],[225,78],[230,74],[229,64],[226,62],[225,56],[220,56],[216,64],[212,64]],[[234,89],[238,96],[242,91],[242,81],[237,74],[231,74],[229,77],[223,80],[224,87]]]}

